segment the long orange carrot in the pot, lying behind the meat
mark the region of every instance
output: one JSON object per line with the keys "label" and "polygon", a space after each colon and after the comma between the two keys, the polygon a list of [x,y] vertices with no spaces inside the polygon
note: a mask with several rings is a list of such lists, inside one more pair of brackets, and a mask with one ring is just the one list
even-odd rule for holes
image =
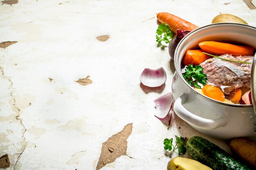
{"label": "long orange carrot in the pot, lying behind the meat", "polygon": [[231,54],[233,56],[239,56],[253,55],[254,53],[252,46],[242,46],[216,41],[204,41],[200,42],[198,45],[203,51],[216,55]]}

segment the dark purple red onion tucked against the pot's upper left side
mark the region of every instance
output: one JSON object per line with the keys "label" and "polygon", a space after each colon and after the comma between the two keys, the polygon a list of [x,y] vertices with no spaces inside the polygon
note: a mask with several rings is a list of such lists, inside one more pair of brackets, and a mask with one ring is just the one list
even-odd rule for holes
{"label": "dark purple red onion tucked against the pot's upper left side", "polygon": [[185,35],[187,35],[190,32],[191,31],[182,31],[180,29],[177,29],[177,35],[175,35],[175,38],[173,38],[169,42],[169,46],[168,46],[169,55],[172,60],[174,59],[174,52],[175,52],[175,49],[176,49],[177,45],[179,44],[180,40],[182,40],[182,38],[184,38]]}

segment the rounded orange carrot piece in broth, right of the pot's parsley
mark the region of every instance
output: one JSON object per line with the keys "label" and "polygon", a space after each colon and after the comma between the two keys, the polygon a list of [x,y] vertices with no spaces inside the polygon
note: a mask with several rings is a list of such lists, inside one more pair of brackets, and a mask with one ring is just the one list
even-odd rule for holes
{"label": "rounded orange carrot piece in broth, right of the pot's parsley", "polygon": [[220,102],[223,102],[225,100],[224,93],[217,86],[207,84],[202,88],[202,92],[204,95],[206,95],[212,99],[216,99]]}

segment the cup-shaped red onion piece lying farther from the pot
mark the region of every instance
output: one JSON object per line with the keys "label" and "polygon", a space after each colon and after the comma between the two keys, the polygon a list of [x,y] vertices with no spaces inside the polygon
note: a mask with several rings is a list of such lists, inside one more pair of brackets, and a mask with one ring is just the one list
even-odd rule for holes
{"label": "cup-shaped red onion piece lying farther from the pot", "polygon": [[156,70],[145,68],[139,79],[144,86],[159,87],[166,82],[166,72],[163,67]]}

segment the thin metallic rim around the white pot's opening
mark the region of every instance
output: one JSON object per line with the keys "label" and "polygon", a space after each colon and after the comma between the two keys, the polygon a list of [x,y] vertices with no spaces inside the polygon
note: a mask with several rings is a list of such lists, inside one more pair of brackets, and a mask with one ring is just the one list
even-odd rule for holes
{"label": "thin metallic rim around the white pot's opening", "polygon": [[[200,30],[200,29],[203,29],[205,27],[208,27],[208,26],[212,26],[212,25],[242,25],[242,26],[247,26],[247,27],[251,27],[253,29],[256,29],[256,27],[254,26],[250,26],[250,25],[247,25],[247,24],[240,24],[240,23],[233,23],[233,22],[220,22],[220,23],[214,23],[214,24],[208,24],[208,25],[205,25],[205,26],[201,26],[193,31],[191,31],[190,33],[188,33],[187,35],[184,36],[184,38],[182,38],[182,40],[180,40],[180,42],[177,44],[177,47],[174,51],[174,66],[175,66],[175,70],[177,72],[177,74],[179,75],[179,77],[182,79],[182,81],[186,84],[186,86],[188,86],[194,93],[196,93],[197,95],[200,95],[201,97],[203,97],[204,99],[207,99],[209,100],[210,102],[214,102],[214,103],[217,103],[217,104],[222,104],[222,105],[225,105],[225,106],[231,106],[231,107],[238,107],[238,108],[244,108],[244,107],[253,107],[252,104],[230,104],[230,103],[225,103],[225,102],[220,102],[218,100],[215,100],[215,99],[212,99],[210,97],[207,97],[205,95],[202,95],[201,93],[199,93],[198,91],[196,91],[193,87],[191,87],[188,82],[186,82],[186,80],[184,79],[184,77],[182,76],[182,73],[180,71],[180,69],[177,69],[177,68],[180,68],[180,66],[177,66],[177,62],[176,62],[176,55],[177,55],[177,49],[179,48],[179,46],[181,45],[181,43],[186,40],[186,38],[188,36],[190,36],[192,33]],[[255,55],[256,56],[256,55]],[[254,57],[255,58],[255,57]],[[253,69],[253,68],[252,68]],[[255,93],[255,92],[254,92]],[[253,95],[252,95],[253,96]]]}

